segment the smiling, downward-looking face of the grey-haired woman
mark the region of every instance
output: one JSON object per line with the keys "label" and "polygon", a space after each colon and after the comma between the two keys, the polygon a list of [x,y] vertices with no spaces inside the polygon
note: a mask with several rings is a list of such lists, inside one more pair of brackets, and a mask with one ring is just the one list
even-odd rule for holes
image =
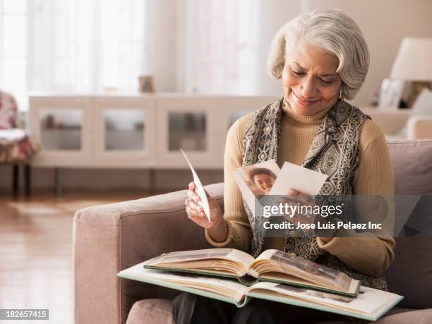
{"label": "smiling, downward-looking face of the grey-haired woman", "polygon": [[296,114],[318,114],[336,102],[342,85],[336,73],[338,65],[335,55],[317,47],[287,49],[282,85],[284,97]]}

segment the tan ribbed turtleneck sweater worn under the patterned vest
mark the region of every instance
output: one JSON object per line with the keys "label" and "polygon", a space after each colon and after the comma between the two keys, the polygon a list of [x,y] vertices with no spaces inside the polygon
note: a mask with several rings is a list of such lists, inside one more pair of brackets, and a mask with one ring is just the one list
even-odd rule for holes
{"label": "tan ribbed turtleneck sweater worn under the patterned vest", "polygon": [[[281,142],[277,164],[287,161],[301,164],[306,157],[316,132],[328,110],[313,116],[301,116],[284,104]],[[241,192],[232,171],[241,167],[243,138],[251,114],[236,121],[227,134],[224,155],[224,219],[228,234],[223,242],[216,242],[205,231],[210,244],[215,247],[233,247],[248,250],[251,227],[244,210]],[[370,119],[361,128],[360,160],[354,180],[354,195],[393,195],[394,177],[385,136]],[[325,243],[317,238],[318,246],[344,263],[367,275],[382,275],[394,258],[394,239],[376,237],[335,237]],[[284,238],[268,238],[264,248],[283,250]]]}

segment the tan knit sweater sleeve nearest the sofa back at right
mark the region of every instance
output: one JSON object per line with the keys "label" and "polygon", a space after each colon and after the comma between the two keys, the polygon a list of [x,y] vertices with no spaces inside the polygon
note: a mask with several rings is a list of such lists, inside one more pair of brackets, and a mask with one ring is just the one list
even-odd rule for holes
{"label": "tan knit sweater sleeve nearest the sofa back at right", "polygon": [[[361,130],[354,194],[392,196],[394,191],[393,168],[385,136],[373,121],[367,120]],[[391,218],[392,206],[388,212]],[[320,238],[317,241],[320,248],[366,275],[383,275],[394,259],[395,240],[392,237],[335,237],[328,243]]]}

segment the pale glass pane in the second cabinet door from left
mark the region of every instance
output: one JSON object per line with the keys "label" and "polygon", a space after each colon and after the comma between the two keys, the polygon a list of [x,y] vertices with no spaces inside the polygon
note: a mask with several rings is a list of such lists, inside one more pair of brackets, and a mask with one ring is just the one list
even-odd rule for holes
{"label": "pale glass pane in the second cabinet door from left", "polygon": [[145,150],[145,112],[104,109],[105,150]]}

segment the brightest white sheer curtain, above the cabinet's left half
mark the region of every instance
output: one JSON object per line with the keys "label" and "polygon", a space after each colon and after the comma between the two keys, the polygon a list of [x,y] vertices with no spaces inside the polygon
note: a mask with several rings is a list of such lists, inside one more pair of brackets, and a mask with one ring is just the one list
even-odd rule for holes
{"label": "brightest white sheer curtain, above the cabinet's left half", "polygon": [[136,91],[143,0],[29,0],[28,90]]}

